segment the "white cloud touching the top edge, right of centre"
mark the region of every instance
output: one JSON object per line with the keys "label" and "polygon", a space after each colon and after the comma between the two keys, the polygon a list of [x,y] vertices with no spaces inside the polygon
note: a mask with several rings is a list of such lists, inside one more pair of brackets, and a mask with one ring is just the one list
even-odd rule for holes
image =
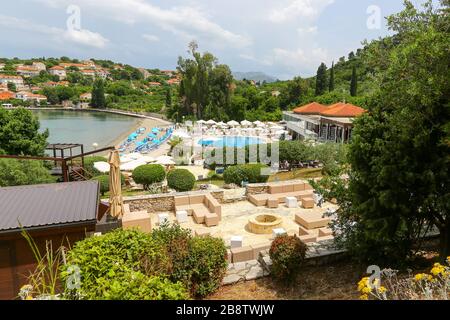
{"label": "white cloud touching the top edge, right of centre", "polygon": [[269,20],[284,23],[296,18],[314,19],[334,0],[291,0],[282,8],[271,10]]}

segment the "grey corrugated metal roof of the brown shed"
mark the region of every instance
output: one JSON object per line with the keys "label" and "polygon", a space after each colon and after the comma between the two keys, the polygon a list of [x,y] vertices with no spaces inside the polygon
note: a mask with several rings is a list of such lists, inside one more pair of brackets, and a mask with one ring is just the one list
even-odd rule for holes
{"label": "grey corrugated metal roof of the brown shed", "polygon": [[0,231],[97,219],[98,181],[0,188]]}

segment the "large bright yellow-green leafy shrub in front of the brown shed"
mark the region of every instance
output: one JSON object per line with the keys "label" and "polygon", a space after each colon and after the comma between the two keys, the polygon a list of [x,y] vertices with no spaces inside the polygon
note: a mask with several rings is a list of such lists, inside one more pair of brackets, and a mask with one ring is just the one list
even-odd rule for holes
{"label": "large bright yellow-green leafy shrub in front of the brown shed", "polygon": [[116,289],[111,283],[127,277],[127,273],[139,271],[145,272],[145,276],[159,276],[168,274],[170,269],[167,253],[150,235],[137,230],[115,230],[77,242],[62,267],[63,283],[70,280],[70,266],[80,269],[81,284],[76,291],[66,288],[65,295],[81,299],[108,299],[110,290]]}

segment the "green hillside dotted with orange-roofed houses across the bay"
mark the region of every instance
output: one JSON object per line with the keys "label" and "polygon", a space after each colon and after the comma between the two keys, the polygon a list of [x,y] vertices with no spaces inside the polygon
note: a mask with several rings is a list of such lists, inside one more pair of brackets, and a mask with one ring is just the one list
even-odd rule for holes
{"label": "green hillside dotted with orange-roofed houses across the bay", "polygon": [[136,68],[109,60],[0,58],[2,103],[85,106],[97,79],[104,80],[107,108],[139,112],[164,110],[167,93],[176,96],[176,71]]}

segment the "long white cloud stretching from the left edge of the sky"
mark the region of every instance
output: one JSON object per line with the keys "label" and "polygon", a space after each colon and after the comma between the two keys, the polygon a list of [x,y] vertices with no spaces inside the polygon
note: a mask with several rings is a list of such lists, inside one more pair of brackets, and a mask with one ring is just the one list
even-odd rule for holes
{"label": "long white cloud stretching from the left edge of the sky", "polygon": [[58,42],[72,42],[87,47],[104,48],[108,43],[108,39],[97,32],[92,32],[86,29],[64,30],[11,16],[0,15],[0,25],[13,30],[37,32],[48,35],[51,39]]}

